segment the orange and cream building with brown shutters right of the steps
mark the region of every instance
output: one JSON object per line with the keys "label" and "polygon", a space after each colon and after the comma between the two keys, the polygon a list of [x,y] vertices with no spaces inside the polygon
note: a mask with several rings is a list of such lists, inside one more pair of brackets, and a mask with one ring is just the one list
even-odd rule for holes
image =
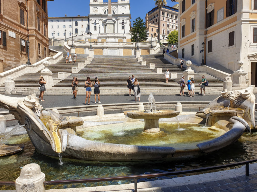
{"label": "orange and cream building with brown shutters right of the steps", "polygon": [[[249,85],[257,84],[257,1],[179,2],[179,58],[233,73],[243,61]],[[204,45],[204,54],[202,43]]]}

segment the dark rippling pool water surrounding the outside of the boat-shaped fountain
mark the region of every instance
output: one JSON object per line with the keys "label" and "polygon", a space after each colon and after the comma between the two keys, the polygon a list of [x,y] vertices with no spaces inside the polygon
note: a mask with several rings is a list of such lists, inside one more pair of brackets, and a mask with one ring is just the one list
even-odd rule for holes
{"label": "dark rippling pool water surrounding the outside of the boat-shaped fountain", "polygon": [[[92,162],[80,161],[75,159],[62,159],[64,164],[59,165],[59,157],[47,157],[38,153],[32,145],[27,135],[11,137],[7,144],[22,143],[24,151],[13,156],[0,158],[0,180],[14,181],[20,176],[23,166],[28,163],[37,163],[41,167],[41,171],[45,173],[46,180],[65,180],[65,179],[82,179],[82,178],[99,178],[124,175],[136,175],[144,173],[156,173],[153,169],[161,169],[166,171],[179,171],[200,167],[208,167],[214,165],[222,165],[234,163],[251,158],[257,158],[257,133],[252,136],[244,133],[243,136],[230,146],[207,154],[205,156],[175,162],[165,161],[148,161],[148,162]],[[177,177],[177,176],[174,176]],[[140,181],[157,180],[158,178],[141,179]],[[163,179],[163,178],[159,178]],[[116,185],[119,181],[99,182],[88,184],[70,184],[60,186],[47,186],[50,188],[67,188],[67,187],[85,187],[85,186],[102,186]],[[133,183],[132,180],[121,181],[121,184]],[[1,190],[14,189],[12,186],[0,186]]]}

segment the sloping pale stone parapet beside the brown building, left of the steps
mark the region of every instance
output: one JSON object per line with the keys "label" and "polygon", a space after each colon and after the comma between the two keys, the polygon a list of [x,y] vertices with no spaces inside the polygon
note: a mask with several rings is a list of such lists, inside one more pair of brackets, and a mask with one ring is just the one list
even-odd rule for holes
{"label": "sloping pale stone parapet beside the brown building, left of the steps", "polygon": [[45,66],[43,65],[43,61],[48,61],[49,63],[56,63],[63,57],[63,52],[58,52],[53,57],[46,57],[32,65],[20,65],[8,71],[0,73],[0,84],[3,84],[7,77],[16,78],[21,76],[24,73],[35,72],[43,69]]}

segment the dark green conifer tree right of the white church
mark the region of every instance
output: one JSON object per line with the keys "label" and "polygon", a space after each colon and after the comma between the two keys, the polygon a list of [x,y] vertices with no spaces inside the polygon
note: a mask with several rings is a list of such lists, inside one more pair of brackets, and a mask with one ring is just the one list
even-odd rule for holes
{"label": "dark green conifer tree right of the white church", "polygon": [[137,33],[139,33],[139,38],[138,41],[142,42],[142,41],[146,41],[147,40],[147,36],[146,36],[146,32],[145,32],[145,23],[143,22],[143,19],[141,19],[140,17],[136,18],[136,21],[133,21],[133,28],[131,28],[131,41],[132,42],[137,42]]}

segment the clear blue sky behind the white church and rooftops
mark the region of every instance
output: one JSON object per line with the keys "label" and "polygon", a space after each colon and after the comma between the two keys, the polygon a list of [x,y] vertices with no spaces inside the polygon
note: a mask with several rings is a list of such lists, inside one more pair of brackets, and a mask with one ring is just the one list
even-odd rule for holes
{"label": "clear blue sky behind the white church and rooftops", "polygon": [[[176,2],[171,2],[171,0],[166,0],[167,5],[172,7],[177,4]],[[104,0],[108,2],[108,0]],[[112,2],[117,2],[117,0],[112,0]],[[64,17],[67,16],[88,16],[89,14],[89,0],[54,0],[48,1],[48,17]],[[137,17],[145,22],[145,15],[147,12],[155,7],[154,0],[130,0],[130,14],[132,19],[130,20],[133,25],[133,20],[135,21]]]}

